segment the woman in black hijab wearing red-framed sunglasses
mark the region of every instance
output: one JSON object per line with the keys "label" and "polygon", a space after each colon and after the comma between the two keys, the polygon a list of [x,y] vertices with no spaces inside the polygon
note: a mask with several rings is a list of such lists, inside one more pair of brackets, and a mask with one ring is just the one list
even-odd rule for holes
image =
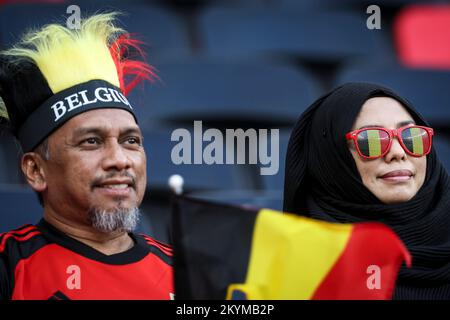
{"label": "woman in black hijab wearing red-framed sunglasses", "polygon": [[[394,299],[448,299],[450,179],[434,148],[426,153],[425,138],[421,148],[412,147],[414,130],[431,135],[409,128],[414,125],[429,127],[407,100],[378,85],[348,83],[319,98],[291,134],[284,210],[330,222],[387,224],[413,257],[411,268],[400,269]],[[401,139],[389,139],[390,133]]]}

